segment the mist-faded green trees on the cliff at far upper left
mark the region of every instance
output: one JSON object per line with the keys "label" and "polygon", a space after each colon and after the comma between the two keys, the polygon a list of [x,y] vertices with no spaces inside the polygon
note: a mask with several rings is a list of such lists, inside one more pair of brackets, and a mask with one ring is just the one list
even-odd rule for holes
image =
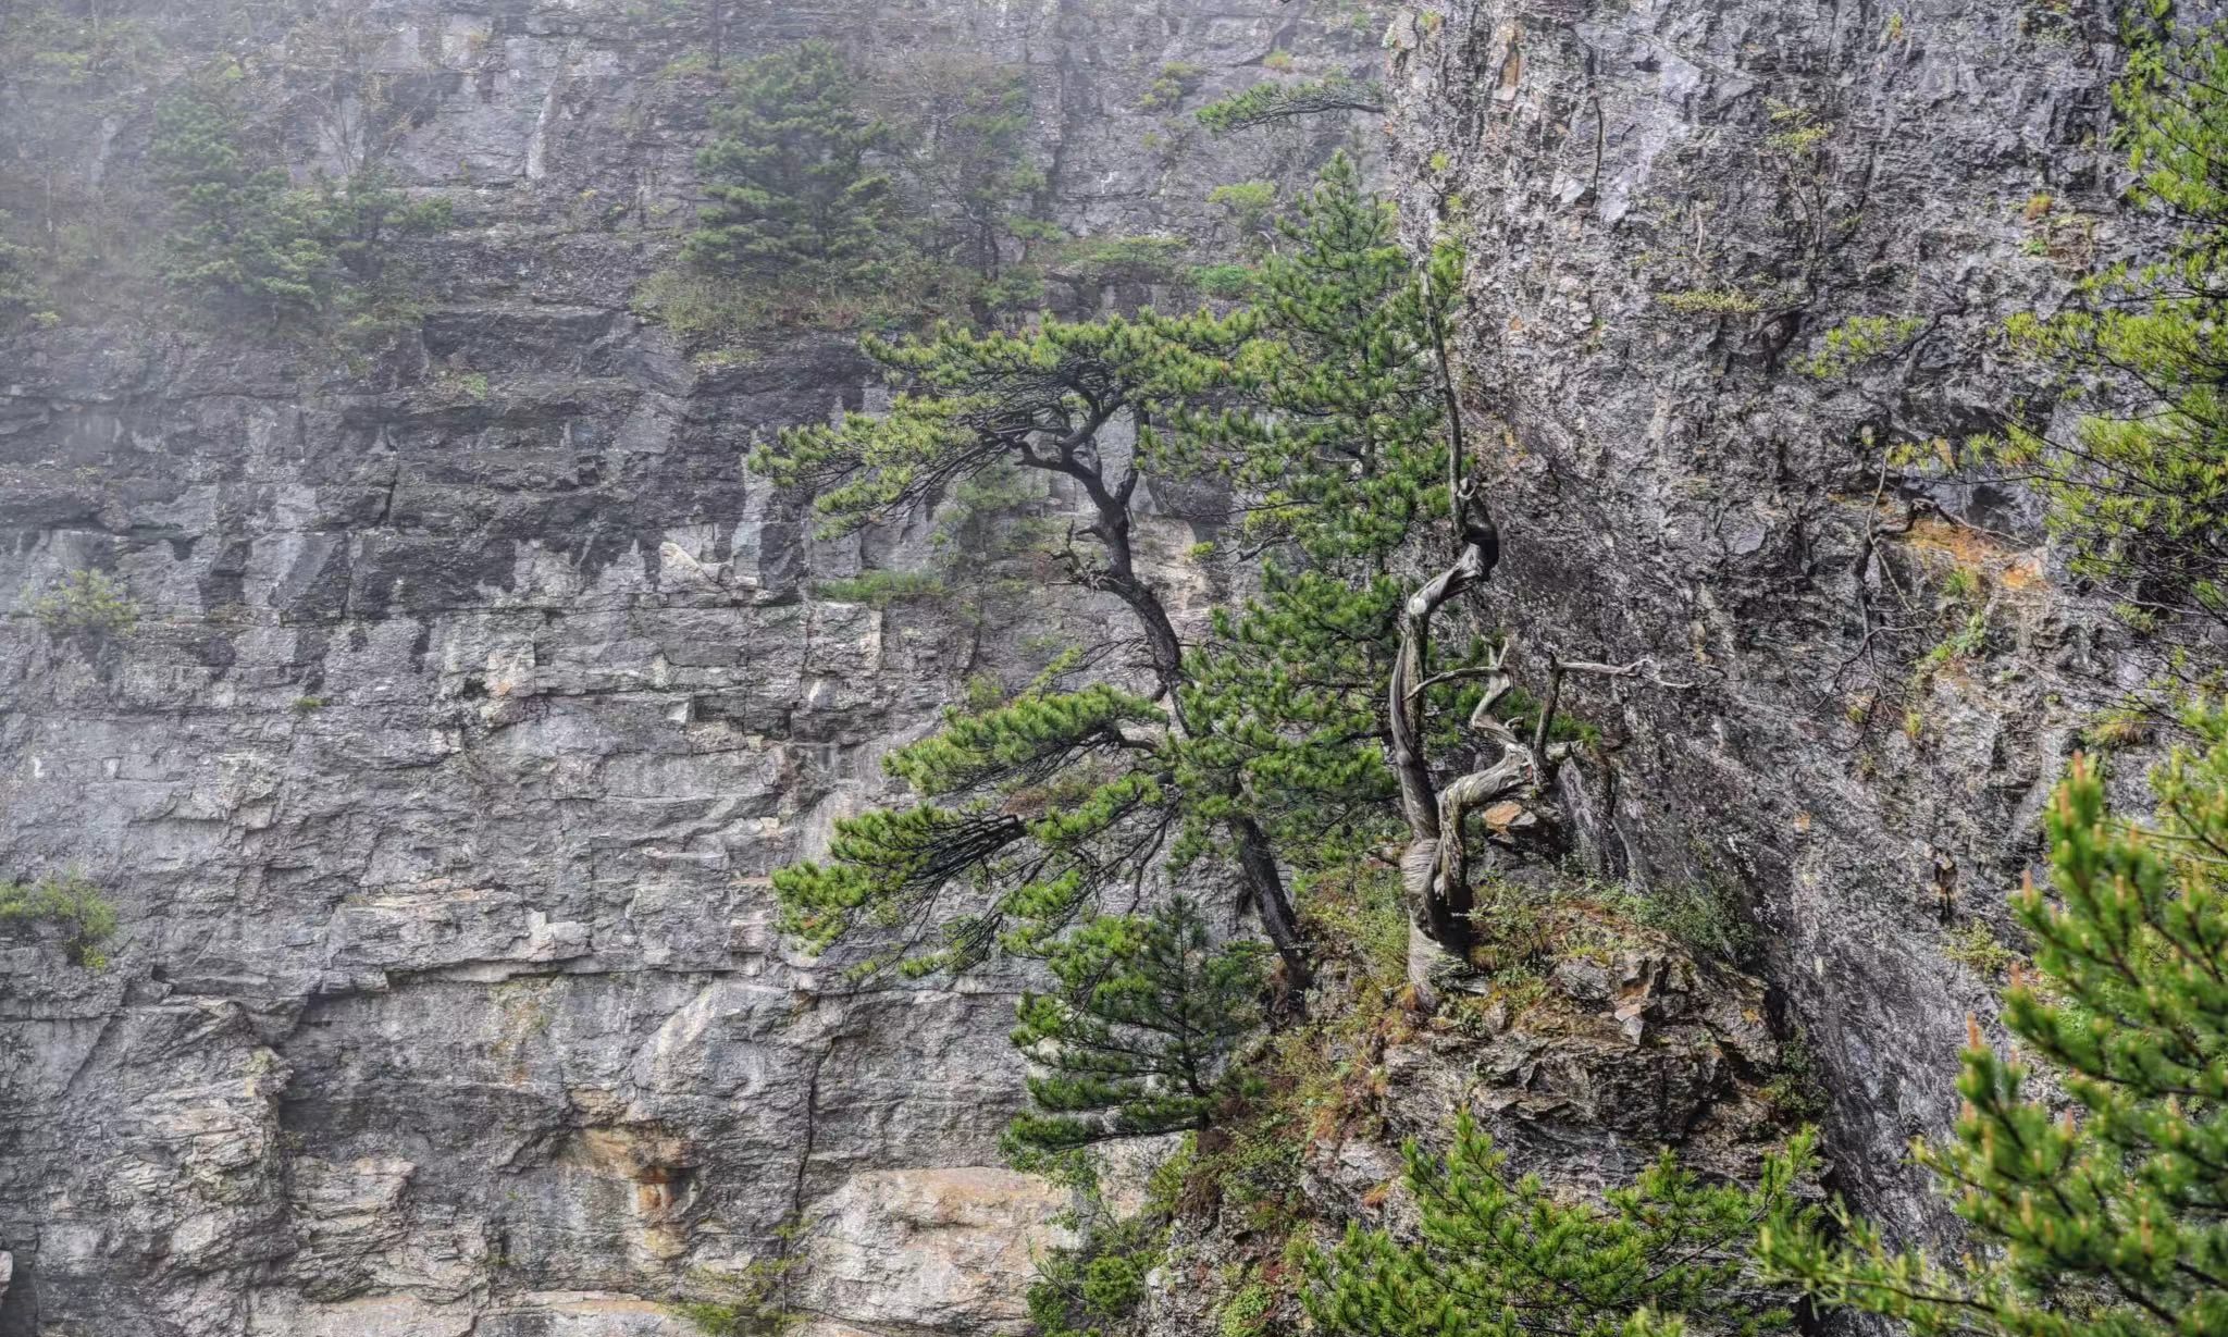
{"label": "mist-faded green trees on the cliff at far upper left", "polygon": [[383,339],[414,316],[390,283],[390,247],[448,227],[448,203],[412,203],[377,169],[296,187],[250,147],[241,78],[238,67],[207,71],[156,109],[149,158],[169,194],[163,279],[218,316]]}

